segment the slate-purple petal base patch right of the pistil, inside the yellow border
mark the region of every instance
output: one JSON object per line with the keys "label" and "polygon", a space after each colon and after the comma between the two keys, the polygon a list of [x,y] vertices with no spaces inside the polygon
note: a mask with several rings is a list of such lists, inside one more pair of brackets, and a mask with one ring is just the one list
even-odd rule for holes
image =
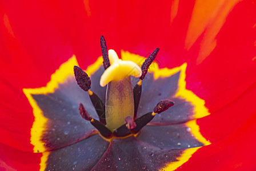
{"label": "slate-purple petal base patch right of the pistil, inside the yellow border", "polygon": [[[194,119],[193,105],[185,99],[175,97],[178,91],[180,72],[168,78],[154,79],[153,74],[147,74],[142,82],[141,100],[138,106],[138,117],[153,111],[153,107],[160,100],[170,99],[175,105],[165,112],[155,116],[153,124],[175,124]],[[163,85],[159,87],[159,85]],[[189,112],[190,111],[190,112]]]}

